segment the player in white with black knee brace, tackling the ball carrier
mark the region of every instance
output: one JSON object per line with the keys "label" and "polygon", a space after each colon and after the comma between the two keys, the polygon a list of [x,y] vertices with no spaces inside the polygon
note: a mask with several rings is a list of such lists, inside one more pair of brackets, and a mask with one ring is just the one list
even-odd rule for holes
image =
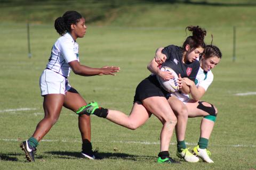
{"label": "player in white with black knee brace, tackling the ball carrier", "polygon": [[[156,61],[161,64],[165,60],[165,55],[159,53],[162,48],[159,48],[156,53]],[[204,162],[213,163],[210,159],[210,151],[206,148],[208,141],[213,130],[215,118],[217,116],[217,108],[205,101],[199,101],[199,99],[205,94],[207,88],[213,81],[213,74],[211,69],[215,67],[221,59],[220,49],[213,45],[208,45],[204,49],[204,52],[200,60],[200,69],[196,75],[195,81],[191,81],[188,78],[183,78],[183,82],[189,86],[191,99],[188,95],[182,94],[182,92],[175,92],[169,94],[170,98],[176,98],[174,101],[168,100],[173,111],[176,114],[185,115],[188,117],[204,116],[201,122],[201,134],[198,142],[198,146],[193,149],[193,152],[198,157],[202,158]],[[184,104],[180,103],[182,101]],[[177,130],[177,129],[176,129]],[[176,131],[177,132],[177,131]],[[179,131],[178,131],[179,132]],[[185,138],[185,133],[177,134],[177,136]],[[177,155],[179,156],[178,152]],[[185,160],[186,158],[183,157]],[[189,159],[186,161],[190,162]]]}

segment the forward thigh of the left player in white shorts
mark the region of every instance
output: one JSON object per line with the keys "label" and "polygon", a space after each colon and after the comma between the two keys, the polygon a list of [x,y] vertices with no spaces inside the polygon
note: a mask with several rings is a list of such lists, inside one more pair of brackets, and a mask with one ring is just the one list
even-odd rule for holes
{"label": "forward thigh of the left player in white shorts", "polygon": [[74,88],[70,88],[65,95],[64,107],[71,111],[77,111],[82,106],[86,106],[87,103],[83,97]]}

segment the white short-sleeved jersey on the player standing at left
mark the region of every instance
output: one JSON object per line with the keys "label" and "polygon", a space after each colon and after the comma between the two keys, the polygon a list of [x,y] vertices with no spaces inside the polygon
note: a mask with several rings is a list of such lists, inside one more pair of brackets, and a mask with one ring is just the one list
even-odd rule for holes
{"label": "white short-sleeved jersey on the player standing at left", "polygon": [[78,44],[69,33],[58,38],[52,47],[52,53],[46,67],[64,77],[70,73],[69,62],[79,61]]}

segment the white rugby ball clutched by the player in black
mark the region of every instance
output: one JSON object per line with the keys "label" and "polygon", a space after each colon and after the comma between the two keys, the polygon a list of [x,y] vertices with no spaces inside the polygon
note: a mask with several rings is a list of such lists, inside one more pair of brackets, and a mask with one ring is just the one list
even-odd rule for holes
{"label": "white rugby ball clutched by the player in black", "polygon": [[158,75],[157,80],[159,81],[159,83],[161,84],[161,86],[163,87],[164,90],[166,90],[167,92],[176,92],[179,90],[179,86],[178,86],[178,75],[177,73],[175,73],[175,71],[173,71],[170,67],[167,66],[163,66],[160,69],[161,71],[169,71],[172,73],[172,75],[174,76],[174,78],[170,79],[170,80],[163,80],[161,77],[159,77]]}

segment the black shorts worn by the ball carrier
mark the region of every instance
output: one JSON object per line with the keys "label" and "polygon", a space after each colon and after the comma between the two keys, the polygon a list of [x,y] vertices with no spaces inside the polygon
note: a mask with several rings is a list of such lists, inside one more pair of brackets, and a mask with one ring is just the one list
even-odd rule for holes
{"label": "black shorts worn by the ball carrier", "polygon": [[138,84],[133,103],[153,96],[166,97],[167,93],[159,84],[156,75],[149,75]]}

